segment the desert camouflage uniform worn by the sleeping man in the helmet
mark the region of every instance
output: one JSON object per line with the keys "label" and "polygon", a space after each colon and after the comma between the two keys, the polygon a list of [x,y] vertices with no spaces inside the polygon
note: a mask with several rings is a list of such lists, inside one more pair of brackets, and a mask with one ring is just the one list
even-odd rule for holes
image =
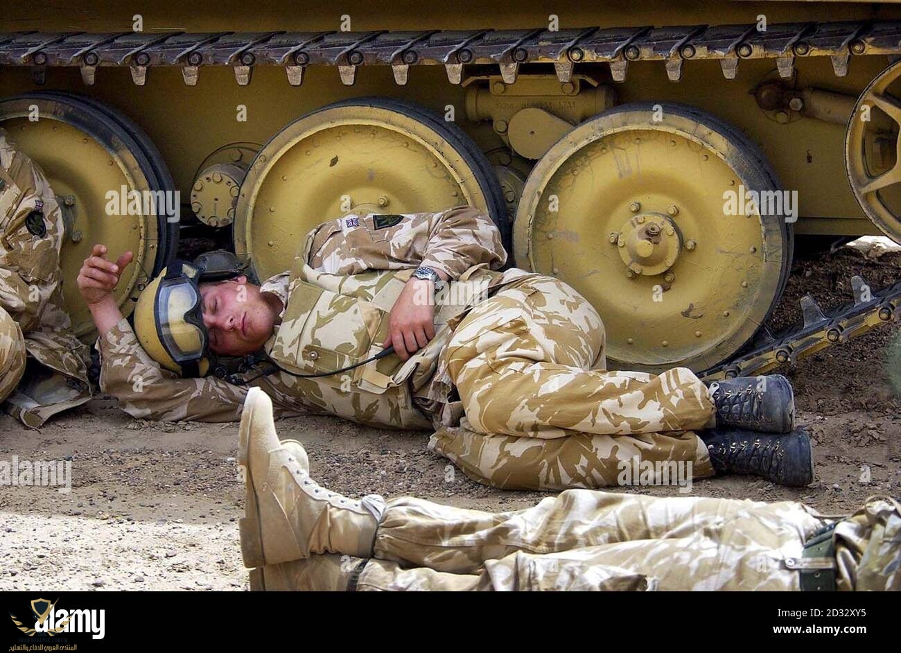
{"label": "desert camouflage uniform worn by the sleeping man in the helmet", "polygon": [[[311,374],[377,354],[388,313],[419,265],[453,280],[436,303],[435,338],[405,363],[392,355],[339,375],[278,373],[255,385],[282,414],[432,427],[433,450],[491,485],[611,485],[617,463],[635,457],[691,461],[695,476],[711,475],[691,432],[713,419],[705,385],[685,368],[660,376],[604,371],[604,327],[587,300],[557,279],[497,272],[504,262],[496,227],[468,207],[326,222],[291,271],[262,286],[285,303],[268,356]],[[98,349],[101,386],[136,417],[239,418],[245,389],[176,379],[144,354],[126,322]]]}

